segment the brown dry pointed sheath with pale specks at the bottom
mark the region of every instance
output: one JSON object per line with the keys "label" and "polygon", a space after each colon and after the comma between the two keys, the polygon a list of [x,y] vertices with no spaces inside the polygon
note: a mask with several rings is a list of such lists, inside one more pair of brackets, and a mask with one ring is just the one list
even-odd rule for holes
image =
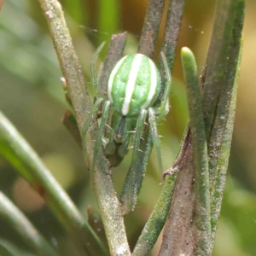
{"label": "brown dry pointed sheath with pale specks at the bottom", "polygon": [[191,134],[188,129],[177,159],[165,175],[177,172],[172,205],[168,213],[160,247],[160,256],[193,255],[195,236],[192,226],[195,212],[194,167],[192,158]]}

